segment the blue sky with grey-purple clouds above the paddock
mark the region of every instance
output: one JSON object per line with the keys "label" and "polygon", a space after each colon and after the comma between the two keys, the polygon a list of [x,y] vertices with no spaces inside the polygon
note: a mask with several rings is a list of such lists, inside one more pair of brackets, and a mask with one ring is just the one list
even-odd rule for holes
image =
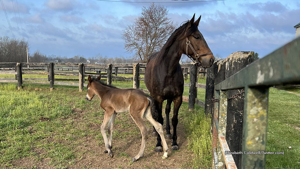
{"label": "blue sky with grey-purple clouds above the paddock", "polygon": [[294,26],[300,22],[299,0],[0,1],[12,28],[0,6],[0,37],[24,38],[29,53],[39,50],[61,57],[131,57],[124,49],[123,30],[150,3],[129,2],[165,6],[178,27],[194,13],[196,18],[201,15],[198,29],[214,55],[221,58],[235,51],[254,51],[264,57],[293,40]]}

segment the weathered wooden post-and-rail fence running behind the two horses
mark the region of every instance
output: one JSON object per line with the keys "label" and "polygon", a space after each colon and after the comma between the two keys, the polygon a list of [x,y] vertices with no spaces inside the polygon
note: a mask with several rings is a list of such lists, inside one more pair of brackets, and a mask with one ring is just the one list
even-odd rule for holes
{"label": "weathered wooden post-and-rail fence running behind the two horses", "polygon": [[[86,64],[86,63],[0,63],[0,74],[13,74],[15,78],[0,78],[0,82],[18,83],[18,89],[23,83],[50,84],[50,90],[54,85],[73,85],[79,86],[79,91],[87,85],[85,81],[88,75],[107,78],[107,84],[112,80],[116,81],[133,81],[133,88],[140,88],[140,77],[145,72],[146,64],[144,63],[125,63],[125,64]],[[190,75],[190,84],[184,86],[190,87],[189,97],[183,97],[185,102],[189,102],[189,109],[194,109],[194,104],[204,107],[204,102],[197,99],[197,88],[205,88],[205,84],[197,83],[197,78],[206,76],[205,68],[196,68],[196,65],[182,64],[184,79]],[[190,73],[192,72],[192,73]],[[133,77],[122,77],[121,74],[131,74]],[[22,75],[47,75],[48,78],[23,78]],[[55,78],[55,75],[69,76],[70,78]],[[74,78],[77,76],[78,78]],[[71,82],[78,81],[78,82]],[[141,89],[146,93],[149,91]]]}

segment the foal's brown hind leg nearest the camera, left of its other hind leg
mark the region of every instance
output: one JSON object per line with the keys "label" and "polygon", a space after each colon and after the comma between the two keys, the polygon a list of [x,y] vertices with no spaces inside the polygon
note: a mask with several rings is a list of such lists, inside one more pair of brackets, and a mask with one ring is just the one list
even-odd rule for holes
{"label": "foal's brown hind leg nearest the camera, left of its other hind leg", "polygon": [[[145,110],[145,109],[144,109]],[[136,111],[136,110],[129,110],[129,114],[131,115],[132,119],[135,121],[137,126],[140,128],[141,133],[142,133],[142,144],[140,148],[139,154],[134,156],[131,161],[137,161],[139,158],[142,158],[144,156],[145,152],[145,146],[146,146],[146,141],[148,139],[148,134],[149,134],[149,128],[146,126],[143,117],[140,115],[142,112]]]}

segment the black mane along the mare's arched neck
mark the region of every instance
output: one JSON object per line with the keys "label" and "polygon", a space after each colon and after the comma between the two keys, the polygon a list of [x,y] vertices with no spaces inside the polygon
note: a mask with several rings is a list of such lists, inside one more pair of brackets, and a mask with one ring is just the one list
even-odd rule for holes
{"label": "black mane along the mare's arched neck", "polygon": [[167,42],[164,44],[164,46],[158,52],[156,64],[162,63],[162,61],[164,60],[164,57],[166,57],[166,55],[168,54],[171,45],[173,45],[173,43],[176,40],[180,40],[180,39],[183,39],[185,37],[188,37],[188,36],[192,35],[198,29],[197,28],[198,26],[196,26],[195,24],[192,24],[192,26],[190,28],[187,28],[188,23],[189,23],[189,20],[185,21],[182,24],[182,26],[177,28],[171,34],[171,36],[168,38]]}

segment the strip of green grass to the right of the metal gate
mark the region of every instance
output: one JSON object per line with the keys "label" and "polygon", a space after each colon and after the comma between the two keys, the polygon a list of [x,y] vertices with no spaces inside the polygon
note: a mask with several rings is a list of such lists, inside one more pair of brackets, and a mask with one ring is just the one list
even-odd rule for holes
{"label": "strip of green grass to the right of the metal gate", "polygon": [[299,168],[299,96],[270,88],[267,134],[267,151],[283,151],[284,155],[266,155],[266,168]]}

